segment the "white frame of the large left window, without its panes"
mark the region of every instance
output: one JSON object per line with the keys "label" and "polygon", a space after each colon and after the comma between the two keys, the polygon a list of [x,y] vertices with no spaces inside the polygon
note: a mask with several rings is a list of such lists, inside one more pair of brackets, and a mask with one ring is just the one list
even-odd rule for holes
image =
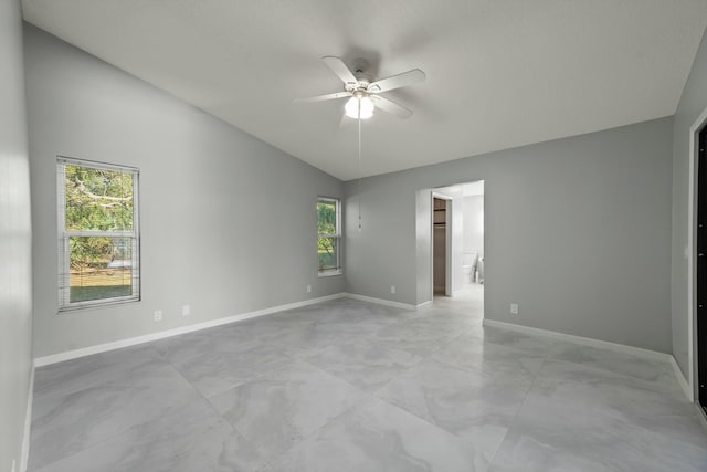
{"label": "white frame of the large left window, without its panes", "polygon": [[[74,231],[66,230],[66,166],[80,166],[92,169],[114,170],[133,175],[133,230],[131,231]],[[57,230],[59,230],[59,312],[89,308],[116,303],[140,301],[140,230],[139,230],[139,169],[128,166],[75,159],[64,156],[56,158]],[[131,238],[131,293],[126,296],[71,302],[71,245],[70,238]],[[64,279],[65,280],[62,280]]]}

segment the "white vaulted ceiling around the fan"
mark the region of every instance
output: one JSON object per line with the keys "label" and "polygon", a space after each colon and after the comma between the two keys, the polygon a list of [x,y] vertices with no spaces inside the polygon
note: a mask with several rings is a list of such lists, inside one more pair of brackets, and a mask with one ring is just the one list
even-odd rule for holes
{"label": "white vaulted ceiling around the fan", "polygon": [[[27,21],[342,180],[672,115],[706,0],[24,0]],[[428,80],[365,122],[320,57]]]}

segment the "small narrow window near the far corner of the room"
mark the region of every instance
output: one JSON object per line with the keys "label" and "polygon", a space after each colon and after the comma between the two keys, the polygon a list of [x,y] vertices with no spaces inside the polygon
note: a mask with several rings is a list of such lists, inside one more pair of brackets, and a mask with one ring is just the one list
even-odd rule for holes
{"label": "small narrow window near the far corner of the room", "polygon": [[336,198],[317,198],[317,258],[319,275],[341,273],[339,250],[341,241],[341,210]]}

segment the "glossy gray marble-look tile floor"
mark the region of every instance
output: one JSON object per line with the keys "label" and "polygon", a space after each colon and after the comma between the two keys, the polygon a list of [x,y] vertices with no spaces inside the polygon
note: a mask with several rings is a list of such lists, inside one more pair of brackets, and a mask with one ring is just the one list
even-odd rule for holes
{"label": "glossy gray marble-look tile floor", "polygon": [[671,366],[340,298],[36,370],[33,472],[707,471]]}

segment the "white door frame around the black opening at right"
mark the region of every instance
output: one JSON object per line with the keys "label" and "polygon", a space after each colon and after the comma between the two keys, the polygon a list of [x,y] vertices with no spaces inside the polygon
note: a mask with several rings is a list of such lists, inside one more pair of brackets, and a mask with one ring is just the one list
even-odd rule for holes
{"label": "white door frame around the black opening at right", "polygon": [[703,111],[699,117],[689,128],[689,182],[687,191],[687,385],[689,386],[688,397],[690,401],[695,401],[696,387],[695,369],[697,367],[695,334],[697,332],[695,324],[695,282],[697,280],[697,270],[695,266],[696,237],[697,237],[697,159],[699,151],[699,132],[707,126],[707,108]]}

